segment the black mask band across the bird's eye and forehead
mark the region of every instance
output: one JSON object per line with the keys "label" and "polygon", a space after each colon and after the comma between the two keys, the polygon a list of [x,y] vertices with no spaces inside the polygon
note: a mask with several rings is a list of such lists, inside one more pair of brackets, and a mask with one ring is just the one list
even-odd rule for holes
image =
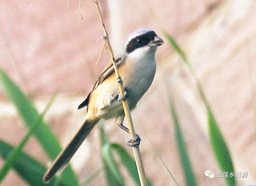
{"label": "black mask band across the bird's eye and forehead", "polygon": [[148,45],[152,40],[154,40],[155,36],[156,36],[155,32],[150,31],[145,34],[134,37],[133,39],[130,40],[130,42],[126,47],[127,53],[131,53],[137,48],[141,48]]}

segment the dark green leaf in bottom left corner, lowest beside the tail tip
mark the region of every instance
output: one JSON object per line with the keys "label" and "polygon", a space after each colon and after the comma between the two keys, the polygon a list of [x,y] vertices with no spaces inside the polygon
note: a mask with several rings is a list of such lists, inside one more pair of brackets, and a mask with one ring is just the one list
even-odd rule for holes
{"label": "dark green leaf in bottom left corner, lowest beside the tail tip", "polygon": [[[14,148],[10,144],[0,140],[0,156],[3,159],[6,159],[13,150]],[[13,169],[30,185],[45,185],[42,181],[42,177],[47,169],[31,156],[21,152],[16,161],[13,162]],[[54,181],[48,185],[53,185],[53,182]],[[61,183],[60,185],[64,184]]]}

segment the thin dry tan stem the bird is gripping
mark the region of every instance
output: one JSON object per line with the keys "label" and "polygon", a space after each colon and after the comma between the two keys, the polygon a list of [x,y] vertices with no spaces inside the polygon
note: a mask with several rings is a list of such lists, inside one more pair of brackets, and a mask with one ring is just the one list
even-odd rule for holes
{"label": "thin dry tan stem the bird is gripping", "polygon": [[[117,79],[117,84],[119,86],[119,91],[120,91],[121,96],[123,97],[124,96],[123,80],[120,77],[119,71],[117,70],[117,66],[115,64],[115,58],[114,58],[113,50],[112,50],[111,45],[110,45],[110,41],[109,41],[109,37],[108,37],[108,33],[107,33],[107,30],[106,30],[105,24],[103,22],[103,18],[102,18],[101,10],[100,10],[100,7],[99,7],[99,3],[97,2],[97,0],[94,0],[94,3],[96,5],[97,11],[98,11],[100,19],[101,19],[101,23],[102,23],[102,27],[103,27],[103,31],[104,31],[104,37],[105,37],[105,40],[106,40],[107,47],[110,51],[112,64],[113,64],[114,71],[115,71],[115,76],[116,76],[116,79]],[[134,127],[133,127],[133,122],[132,122],[132,118],[131,118],[131,112],[130,112],[130,109],[129,109],[128,101],[126,99],[122,100],[122,104],[123,104],[125,116],[127,118],[128,128],[129,128],[129,133],[131,135],[131,139],[135,139],[136,134],[135,134],[135,130],[134,130]],[[146,180],[146,176],[145,176],[145,172],[144,172],[144,168],[143,168],[143,164],[142,164],[140,149],[139,149],[139,147],[132,147],[132,149],[133,149],[133,153],[134,153],[134,156],[135,156],[135,162],[136,162],[136,166],[137,166],[137,171],[139,173],[141,185],[146,186],[147,185],[147,180]]]}

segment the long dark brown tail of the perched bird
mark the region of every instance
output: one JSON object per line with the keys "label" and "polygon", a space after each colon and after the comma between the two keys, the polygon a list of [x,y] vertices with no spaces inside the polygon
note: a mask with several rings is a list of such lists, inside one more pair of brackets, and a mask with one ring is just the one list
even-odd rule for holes
{"label": "long dark brown tail of the perched bird", "polygon": [[49,182],[56,172],[62,172],[64,170],[69,160],[72,158],[76,150],[81,146],[82,142],[98,121],[99,120],[90,121],[85,119],[65,149],[63,149],[63,151],[57,156],[50,169],[45,173],[43,178],[45,183]]}

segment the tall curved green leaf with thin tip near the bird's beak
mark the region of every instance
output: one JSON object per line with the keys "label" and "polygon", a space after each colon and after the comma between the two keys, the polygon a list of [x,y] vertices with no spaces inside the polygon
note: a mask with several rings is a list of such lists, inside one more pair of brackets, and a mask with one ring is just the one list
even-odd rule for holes
{"label": "tall curved green leaf with thin tip near the bird's beak", "polygon": [[[222,169],[223,172],[234,172],[233,169],[233,163],[231,160],[231,156],[227,147],[227,144],[225,142],[225,139],[221,133],[221,130],[218,126],[218,123],[216,122],[215,117],[212,114],[210,105],[206,99],[206,96],[204,94],[203,88],[200,84],[200,81],[195,75],[195,72],[191,66],[191,63],[187,59],[184,52],[181,50],[181,48],[176,44],[173,37],[170,36],[167,32],[164,32],[166,38],[168,39],[171,47],[181,56],[185,64],[187,65],[188,69],[190,70],[193,78],[196,81],[196,87],[198,88],[198,91],[200,93],[201,99],[203,100],[206,109],[207,109],[207,115],[208,115],[208,128],[210,132],[210,140],[211,140],[211,146],[214,152],[214,155],[216,159],[218,160],[218,163]],[[228,185],[235,185],[235,179],[232,178],[226,178],[226,182]]]}

